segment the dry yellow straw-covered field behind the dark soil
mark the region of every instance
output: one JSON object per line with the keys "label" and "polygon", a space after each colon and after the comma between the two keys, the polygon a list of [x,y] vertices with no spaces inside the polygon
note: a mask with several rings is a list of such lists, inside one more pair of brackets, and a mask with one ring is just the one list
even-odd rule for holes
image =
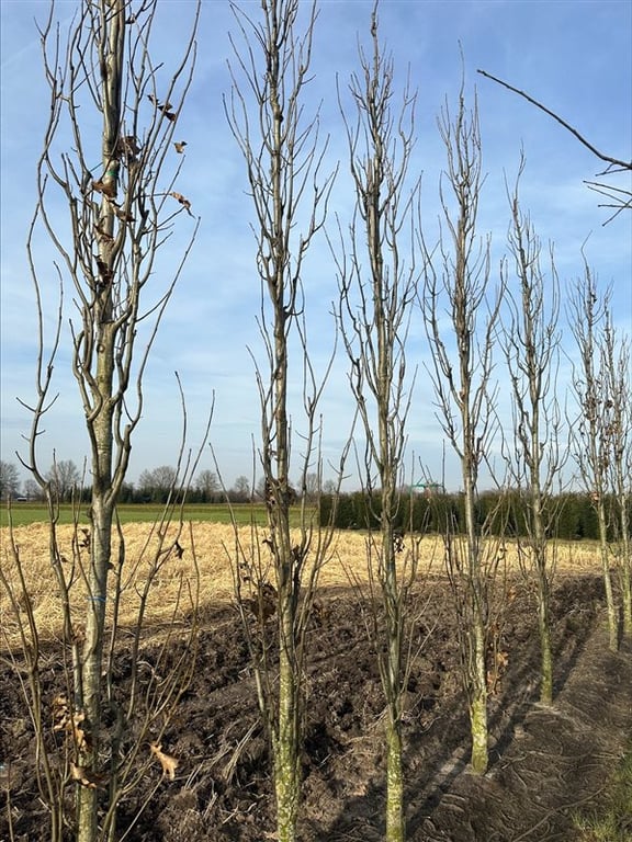
{"label": "dry yellow straw-covered field behind the dark soil", "polygon": [[[192,602],[199,593],[200,605],[223,603],[233,598],[232,561],[239,555],[233,526],[223,524],[195,523],[185,525],[178,534],[171,526],[165,547],[172,546],[178,538],[184,550],[178,558],[177,553],[168,555],[157,571],[154,570],[158,538],[153,524],[127,524],[123,527],[126,545],[126,559],[121,571],[120,622],[124,627],[133,627],[138,617],[140,594],[145,583],[153,577],[153,584],[147,599],[146,619],[153,626],[171,623],[185,623],[191,613]],[[74,527],[60,526],[57,532],[59,553],[67,559],[63,561],[66,574],[72,568]],[[79,536],[81,537],[81,535]],[[264,533],[259,536],[256,550],[262,566],[269,561],[269,553],[261,545]],[[252,534],[250,527],[238,531],[240,550],[250,557]],[[29,595],[34,607],[34,618],[43,638],[59,635],[61,629],[61,607],[57,595],[57,582],[48,556],[48,526],[43,523],[20,526],[14,530],[20,566]],[[4,577],[15,594],[20,606],[20,617],[25,619],[24,598],[22,594],[18,566],[11,551],[8,528],[0,530],[1,564]],[[87,550],[83,549],[86,556]],[[114,542],[116,551],[116,541]],[[507,562],[517,567],[516,547],[507,546]],[[194,564],[196,559],[196,565]],[[562,573],[598,572],[597,547],[594,544],[563,544],[558,547],[558,570]],[[420,542],[420,569],[441,574],[443,571],[443,546],[440,537],[427,536]],[[75,565],[76,582],[70,589],[74,615],[77,622],[84,614],[87,589],[82,581],[80,564]],[[350,579],[366,581],[366,543],[362,534],[339,532],[330,547],[329,558],[320,574],[320,584],[325,588],[348,585]],[[116,574],[110,577],[112,594]],[[108,604],[109,621],[112,621],[113,600]],[[18,644],[19,623],[15,611],[4,589],[0,591],[0,624],[2,639],[0,646],[14,647]]]}

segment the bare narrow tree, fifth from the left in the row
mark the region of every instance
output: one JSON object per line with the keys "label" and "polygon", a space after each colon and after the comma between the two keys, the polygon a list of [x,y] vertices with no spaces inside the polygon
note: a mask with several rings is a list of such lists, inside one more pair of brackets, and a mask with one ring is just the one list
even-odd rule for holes
{"label": "bare narrow tree, fifth from the left in the row", "polygon": [[533,579],[538,599],[540,633],[540,701],[553,701],[553,652],[551,647],[551,590],[555,572],[553,505],[556,483],[565,457],[560,448],[562,413],[556,384],[560,356],[560,291],[557,273],[550,255],[549,273],[542,266],[541,244],[533,225],[521,208],[518,184],[510,195],[510,268],[505,264],[508,317],[504,323],[503,346],[512,386],[514,437],[506,442],[505,459],[512,486],[518,491],[520,520],[526,536],[518,537],[520,564]]}

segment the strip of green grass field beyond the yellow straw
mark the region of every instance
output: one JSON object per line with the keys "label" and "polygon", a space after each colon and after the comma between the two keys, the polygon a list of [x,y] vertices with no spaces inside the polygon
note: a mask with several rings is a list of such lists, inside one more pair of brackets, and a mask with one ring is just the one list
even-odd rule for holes
{"label": "strip of green grass field beyond the yellow straw", "polygon": [[[78,511],[78,522],[81,525],[89,524],[89,505],[81,504]],[[202,523],[232,523],[233,516],[239,524],[248,524],[251,519],[257,523],[266,523],[266,507],[263,503],[191,503],[184,507],[184,521]],[[122,523],[153,523],[165,514],[165,507],[153,503],[139,503],[136,505],[120,505],[119,516]],[[77,516],[76,510],[69,503],[59,507],[59,524],[72,523]],[[171,520],[178,520],[179,511],[173,512]],[[295,510],[295,519],[298,517],[298,508]],[[43,523],[48,520],[46,507],[43,503],[12,503],[11,519],[14,526],[29,526],[31,523]],[[292,519],[294,520],[294,519]],[[9,509],[0,509],[0,526],[9,525]]]}

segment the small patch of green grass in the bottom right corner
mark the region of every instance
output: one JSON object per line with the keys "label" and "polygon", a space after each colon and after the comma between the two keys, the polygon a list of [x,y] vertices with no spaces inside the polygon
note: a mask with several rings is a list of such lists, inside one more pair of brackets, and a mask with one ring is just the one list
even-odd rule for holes
{"label": "small patch of green grass in the bottom right corner", "polygon": [[577,842],[632,840],[632,740],[599,804],[575,817]]}

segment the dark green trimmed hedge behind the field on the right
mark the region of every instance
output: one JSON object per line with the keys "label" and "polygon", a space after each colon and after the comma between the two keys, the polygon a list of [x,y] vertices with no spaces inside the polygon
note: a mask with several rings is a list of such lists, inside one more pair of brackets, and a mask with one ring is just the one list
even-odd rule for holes
{"label": "dark green trimmed hedge behind the field on the right", "polygon": [[[320,499],[320,522],[328,523],[335,499],[325,494]],[[614,511],[613,497],[607,499],[607,509]],[[589,494],[567,492],[551,498],[545,513],[549,537],[563,541],[599,539],[599,522],[595,503]],[[524,536],[524,505],[517,491],[487,491],[476,500],[476,520],[493,535],[507,538]],[[361,491],[340,494],[334,515],[339,530],[376,530],[380,525],[380,497],[371,507]],[[453,532],[465,530],[465,500],[462,493],[403,493],[395,525],[402,533],[443,534],[447,527]],[[609,539],[619,537],[617,519],[609,517]]]}

